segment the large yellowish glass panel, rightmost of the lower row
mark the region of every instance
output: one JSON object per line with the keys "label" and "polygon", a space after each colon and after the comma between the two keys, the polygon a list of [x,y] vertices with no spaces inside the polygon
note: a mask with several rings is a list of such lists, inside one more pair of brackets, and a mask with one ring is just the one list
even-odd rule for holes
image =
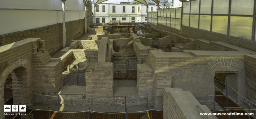
{"label": "large yellowish glass panel, rightmost of the lower row", "polygon": [[252,39],[252,17],[230,17],[229,35],[245,39]]}

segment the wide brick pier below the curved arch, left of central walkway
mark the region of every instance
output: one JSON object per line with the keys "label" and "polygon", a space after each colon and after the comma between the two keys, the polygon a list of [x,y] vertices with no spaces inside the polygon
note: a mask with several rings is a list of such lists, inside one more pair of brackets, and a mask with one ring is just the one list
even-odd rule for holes
{"label": "wide brick pier below the curved arch, left of central walkway", "polygon": [[113,63],[93,63],[86,69],[86,93],[89,96],[108,98],[114,94]]}

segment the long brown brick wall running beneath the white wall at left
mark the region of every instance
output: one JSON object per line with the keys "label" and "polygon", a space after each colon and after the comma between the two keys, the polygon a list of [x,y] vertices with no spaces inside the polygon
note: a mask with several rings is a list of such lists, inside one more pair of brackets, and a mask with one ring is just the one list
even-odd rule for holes
{"label": "long brown brick wall running beneath the white wall at left", "polygon": [[[84,34],[84,31],[85,31],[84,24],[85,24],[84,19],[66,22],[66,45],[71,43],[70,42],[71,40],[77,39],[78,37]],[[39,31],[33,31],[33,30],[39,30]],[[63,47],[62,24],[53,24],[52,26],[34,28],[33,30],[20,31],[20,32],[4,35],[3,43],[5,45],[8,45],[10,43],[21,41],[26,38],[42,38],[42,40],[45,41],[45,49],[46,51],[49,52],[50,55],[53,55],[57,51],[62,49]],[[43,31],[40,31],[40,30],[43,30]]]}

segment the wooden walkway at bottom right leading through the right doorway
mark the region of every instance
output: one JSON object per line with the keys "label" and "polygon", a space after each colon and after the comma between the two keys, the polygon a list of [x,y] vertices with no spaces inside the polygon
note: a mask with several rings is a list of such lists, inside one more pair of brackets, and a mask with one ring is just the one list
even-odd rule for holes
{"label": "wooden walkway at bottom right leading through the right doorway", "polygon": [[[231,109],[239,109],[239,110],[231,110],[230,112],[232,113],[247,113],[245,111],[243,111],[244,108],[240,107],[239,105],[235,104],[232,100],[230,100],[229,98],[227,99],[226,96],[224,96],[224,94],[220,91],[215,91],[216,95],[223,95],[223,96],[216,96],[216,101],[222,105],[222,107],[226,108],[226,105],[229,109],[229,107],[231,106]],[[217,111],[217,112],[212,112],[212,113],[229,113],[229,111]],[[251,111],[252,113],[252,111]],[[218,119],[229,119],[229,116],[227,115],[218,115],[216,116]],[[249,119],[249,116],[238,116],[238,115],[231,115],[230,119]],[[250,119],[254,119],[252,116],[250,116]]]}

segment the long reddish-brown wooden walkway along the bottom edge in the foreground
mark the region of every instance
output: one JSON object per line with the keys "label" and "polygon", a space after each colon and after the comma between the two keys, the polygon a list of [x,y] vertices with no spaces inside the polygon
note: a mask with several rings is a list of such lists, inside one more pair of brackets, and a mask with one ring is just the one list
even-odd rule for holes
{"label": "long reddish-brown wooden walkway along the bottom edge in the foreground", "polygon": [[[26,109],[26,114],[33,114],[34,119],[49,119],[48,111],[38,111]],[[146,113],[127,113],[127,119],[140,119]],[[151,117],[151,111],[149,112]],[[50,119],[88,119],[89,112],[79,113],[62,113],[51,112]],[[21,119],[21,116],[5,116],[5,119]],[[103,114],[103,113],[90,113],[89,119],[126,119],[126,114]],[[153,119],[163,119],[162,111],[153,111]]]}

